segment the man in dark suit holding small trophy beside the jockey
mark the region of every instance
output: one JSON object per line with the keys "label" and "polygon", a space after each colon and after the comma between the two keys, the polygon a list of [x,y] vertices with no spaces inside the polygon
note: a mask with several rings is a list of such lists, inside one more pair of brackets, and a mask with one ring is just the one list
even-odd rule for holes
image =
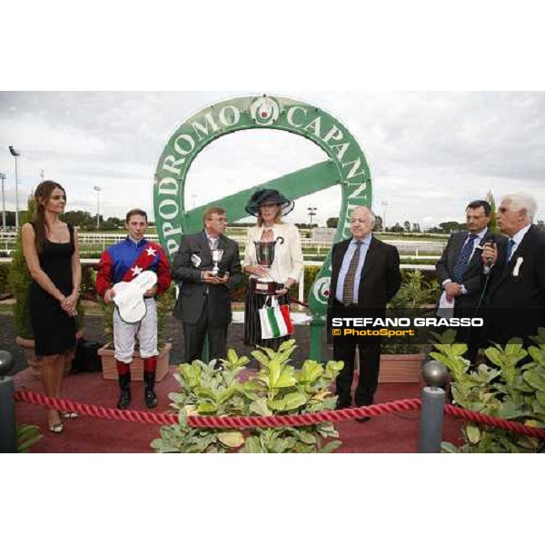
{"label": "man in dark suit holding small trophy beside the jockey", "polygon": [[232,319],[229,292],[242,279],[238,243],[226,237],[227,215],[218,206],[203,213],[201,233],[184,234],[173,261],[180,283],[174,316],[183,322],[184,360],[201,359],[208,334],[210,360],[225,357]]}

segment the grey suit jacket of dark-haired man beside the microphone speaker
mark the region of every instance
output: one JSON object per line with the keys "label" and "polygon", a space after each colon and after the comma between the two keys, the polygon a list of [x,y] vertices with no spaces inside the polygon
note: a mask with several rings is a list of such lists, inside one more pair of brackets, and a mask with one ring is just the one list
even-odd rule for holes
{"label": "grey suit jacket of dark-haired man beside the microphone speaker", "polygon": [[[467,231],[462,233],[452,233],[451,237],[449,238],[449,242],[443,250],[440,260],[435,263],[435,275],[440,286],[442,285],[442,282],[449,278],[452,282],[454,282],[452,278],[454,274],[454,266],[458,262],[461,249],[468,238],[468,234],[469,233]],[[488,231],[484,234],[484,237],[486,237],[487,234]],[[498,250],[500,251],[500,247],[505,246],[506,239],[504,237],[495,238],[499,247]],[[475,248],[461,282],[468,292],[455,298],[455,309],[475,309],[479,304],[483,282],[481,255],[482,250]]]}

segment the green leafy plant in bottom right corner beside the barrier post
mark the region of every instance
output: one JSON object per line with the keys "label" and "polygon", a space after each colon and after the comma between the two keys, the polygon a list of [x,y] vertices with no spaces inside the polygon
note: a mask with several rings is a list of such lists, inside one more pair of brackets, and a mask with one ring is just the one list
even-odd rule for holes
{"label": "green leafy plant in bottom right corner beside the barrier post", "polygon": [[[520,339],[511,339],[502,348],[495,345],[484,354],[487,363],[474,371],[463,358],[467,345],[455,343],[455,332],[436,335],[438,352],[431,357],[444,363],[451,372],[452,396],[465,409],[493,417],[545,428],[545,328],[532,337],[537,346],[528,350]],[[544,452],[545,441],[498,428],[470,423],[464,426],[465,443],[457,447],[443,443],[449,452]]]}

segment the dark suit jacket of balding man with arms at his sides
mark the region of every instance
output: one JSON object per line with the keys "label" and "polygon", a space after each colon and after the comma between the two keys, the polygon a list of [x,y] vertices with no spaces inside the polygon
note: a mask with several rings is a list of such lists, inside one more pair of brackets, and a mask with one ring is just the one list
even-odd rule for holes
{"label": "dark suit jacket of balding man with arms at his sides", "polygon": [[[341,272],[342,260],[351,240],[333,245],[332,281],[328,301],[330,308],[335,304],[339,272]],[[400,254],[397,248],[372,237],[360,278],[358,306],[362,309],[385,309],[386,303],[400,289],[400,285]]]}

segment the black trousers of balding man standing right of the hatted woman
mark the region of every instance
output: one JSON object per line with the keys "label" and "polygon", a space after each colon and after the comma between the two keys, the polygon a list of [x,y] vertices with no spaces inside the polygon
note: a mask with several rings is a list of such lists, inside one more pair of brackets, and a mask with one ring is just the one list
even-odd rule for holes
{"label": "black trousers of balding man standing right of the hatted woman", "polygon": [[333,360],[342,360],[344,367],[337,377],[337,405],[340,408],[352,404],[352,381],[354,376],[354,356],[356,347],[360,351],[360,376],[354,393],[356,406],[372,405],[374,394],[379,385],[381,366],[381,343],[339,343],[333,341]]}

